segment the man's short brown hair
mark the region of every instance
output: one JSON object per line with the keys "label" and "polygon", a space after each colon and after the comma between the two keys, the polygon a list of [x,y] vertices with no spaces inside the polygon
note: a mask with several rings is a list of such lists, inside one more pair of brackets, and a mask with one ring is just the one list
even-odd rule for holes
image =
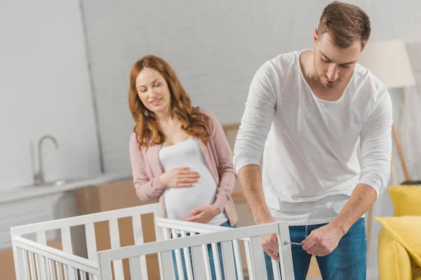
{"label": "man's short brown hair", "polygon": [[355,5],[333,1],[323,9],[318,31],[319,36],[328,32],[340,48],[348,48],[357,40],[361,40],[364,48],[370,38],[370,18]]}

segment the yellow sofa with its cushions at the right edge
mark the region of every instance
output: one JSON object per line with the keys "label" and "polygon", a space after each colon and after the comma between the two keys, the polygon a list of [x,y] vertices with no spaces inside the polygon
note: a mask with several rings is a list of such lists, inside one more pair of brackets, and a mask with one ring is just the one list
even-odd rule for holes
{"label": "yellow sofa with its cushions at the right edge", "polygon": [[376,217],[382,224],[377,256],[380,280],[421,280],[421,187],[388,188],[394,217]]}

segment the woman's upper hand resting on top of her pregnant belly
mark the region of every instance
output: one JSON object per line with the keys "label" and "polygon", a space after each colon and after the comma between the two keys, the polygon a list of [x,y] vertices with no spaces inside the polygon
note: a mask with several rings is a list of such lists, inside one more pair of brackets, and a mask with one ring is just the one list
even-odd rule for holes
{"label": "woman's upper hand resting on top of her pregnant belly", "polygon": [[159,176],[163,186],[168,188],[188,188],[193,186],[193,183],[197,183],[199,178],[198,172],[191,171],[187,167],[174,168]]}

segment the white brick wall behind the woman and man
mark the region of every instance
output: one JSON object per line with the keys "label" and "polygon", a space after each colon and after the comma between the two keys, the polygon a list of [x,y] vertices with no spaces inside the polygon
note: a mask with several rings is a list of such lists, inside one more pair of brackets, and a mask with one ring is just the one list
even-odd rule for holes
{"label": "white brick wall behind the woman and man", "polygon": [[[281,52],[312,48],[312,31],[329,2],[83,1],[105,170],[130,170],[128,135],[133,120],[127,90],[136,59],[147,54],[163,57],[178,73],[194,105],[213,110],[221,123],[238,123],[258,67]],[[371,41],[403,38],[410,44],[421,83],[417,68],[421,1],[348,2],[370,16]],[[400,182],[402,172],[397,168]],[[387,193],[376,202],[373,216],[393,216]],[[375,267],[380,225],[373,222],[372,228],[369,265]]]}

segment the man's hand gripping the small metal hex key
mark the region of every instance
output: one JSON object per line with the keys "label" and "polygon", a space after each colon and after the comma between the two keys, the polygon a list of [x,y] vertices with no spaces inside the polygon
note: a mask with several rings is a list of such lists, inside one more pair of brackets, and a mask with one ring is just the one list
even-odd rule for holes
{"label": "man's hand gripping the small metal hex key", "polygon": [[343,236],[344,233],[339,228],[329,223],[313,230],[301,244],[307,253],[323,257],[335,250]]}

